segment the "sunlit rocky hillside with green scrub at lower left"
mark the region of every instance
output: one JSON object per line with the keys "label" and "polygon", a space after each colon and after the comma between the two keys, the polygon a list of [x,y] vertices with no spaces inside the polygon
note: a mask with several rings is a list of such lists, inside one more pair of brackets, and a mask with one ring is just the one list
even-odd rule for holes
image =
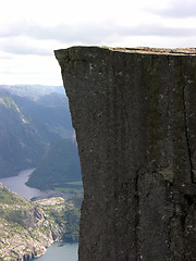
{"label": "sunlit rocky hillside with green scrub at lower left", "polygon": [[28,260],[53,241],[77,241],[82,195],[28,201],[0,184],[0,260]]}

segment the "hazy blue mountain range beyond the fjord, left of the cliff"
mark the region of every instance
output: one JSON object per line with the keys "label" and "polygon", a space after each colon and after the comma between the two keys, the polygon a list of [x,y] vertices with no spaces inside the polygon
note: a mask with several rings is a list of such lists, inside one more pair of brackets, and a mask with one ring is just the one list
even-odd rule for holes
{"label": "hazy blue mountain range beyond the fjord, left of the cliff", "polygon": [[[82,190],[81,166],[65,95],[0,86],[0,177],[37,167],[28,186]],[[40,88],[42,90],[42,88]],[[17,90],[17,91],[16,91]],[[45,90],[45,88],[44,88]],[[38,95],[37,95],[38,94]]]}

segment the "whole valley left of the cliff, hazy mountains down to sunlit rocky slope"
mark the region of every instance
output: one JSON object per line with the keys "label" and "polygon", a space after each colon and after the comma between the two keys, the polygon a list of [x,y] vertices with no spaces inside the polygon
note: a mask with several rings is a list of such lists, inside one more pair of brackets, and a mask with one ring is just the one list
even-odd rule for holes
{"label": "whole valley left of the cliff, hazy mountains down to sunlit rocky slope", "polygon": [[81,165],[62,90],[0,86],[0,260],[78,241]]}

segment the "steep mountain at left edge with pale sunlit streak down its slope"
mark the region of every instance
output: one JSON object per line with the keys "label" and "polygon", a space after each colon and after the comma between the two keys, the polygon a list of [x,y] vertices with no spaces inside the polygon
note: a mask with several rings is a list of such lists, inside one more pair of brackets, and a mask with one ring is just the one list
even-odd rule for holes
{"label": "steep mountain at left edge with pale sunlit streak down its slope", "polygon": [[37,165],[46,147],[47,142],[12,95],[0,89],[0,177]]}

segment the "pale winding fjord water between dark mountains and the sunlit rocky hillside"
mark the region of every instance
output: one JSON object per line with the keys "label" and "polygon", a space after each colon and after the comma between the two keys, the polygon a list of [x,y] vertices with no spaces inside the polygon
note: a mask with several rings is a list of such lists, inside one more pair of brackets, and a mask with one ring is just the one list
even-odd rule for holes
{"label": "pale winding fjord water between dark mountains and the sunlit rocky hillside", "polygon": [[0,178],[0,183],[25,199],[44,196],[45,192],[25,185],[35,169],[21,171],[17,176]]}

